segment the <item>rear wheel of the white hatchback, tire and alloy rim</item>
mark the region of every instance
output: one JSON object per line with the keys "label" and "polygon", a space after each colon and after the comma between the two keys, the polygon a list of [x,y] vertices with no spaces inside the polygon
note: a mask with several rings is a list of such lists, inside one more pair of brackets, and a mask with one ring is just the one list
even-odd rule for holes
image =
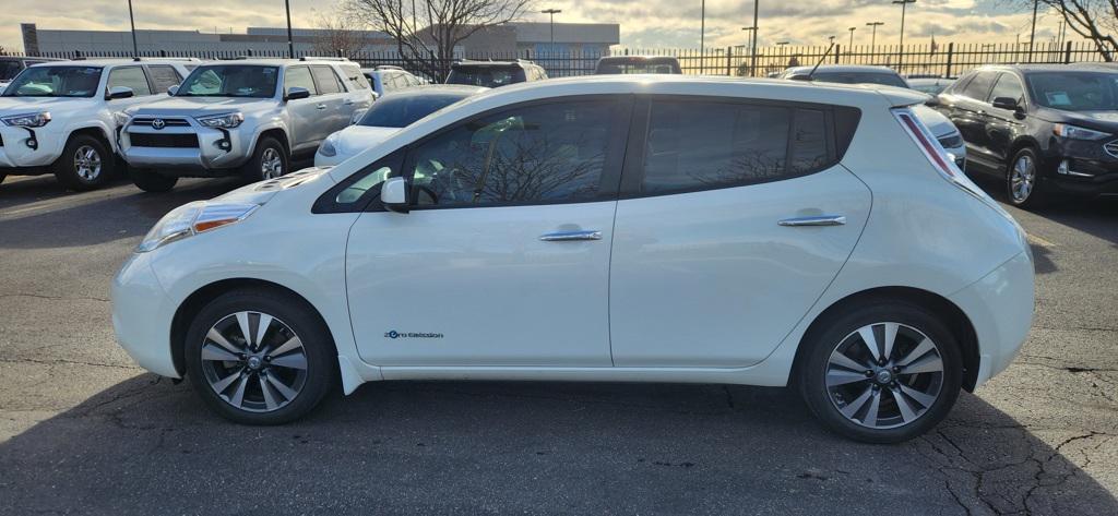
{"label": "rear wheel of the white hatchback, tire and alloy rim", "polygon": [[805,340],[800,392],[831,430],[900,442],[939,423],[958,398],[958,343],[932,312],[902,300],[831,316]]}

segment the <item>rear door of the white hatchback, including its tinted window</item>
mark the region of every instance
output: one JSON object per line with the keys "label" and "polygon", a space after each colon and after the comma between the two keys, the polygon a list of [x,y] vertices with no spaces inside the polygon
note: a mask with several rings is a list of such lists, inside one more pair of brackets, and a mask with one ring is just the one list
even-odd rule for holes
{"label": "rear door of the white hatchback, including its tinted window", "polygon": [[610,262],[614,364],[755,364],[861,235],[871,197],[837,164],[850,134],[835,130],[856,111],[653,97],[635,113]]}

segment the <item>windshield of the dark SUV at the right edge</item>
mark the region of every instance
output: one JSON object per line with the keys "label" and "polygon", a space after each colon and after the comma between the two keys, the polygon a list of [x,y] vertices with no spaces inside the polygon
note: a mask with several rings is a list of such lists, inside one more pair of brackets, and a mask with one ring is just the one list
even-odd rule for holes
{"label": "windshield of the dark SUV at the right edge", "polygon": [[1029,74],[1036,104],[1063,111],[1118,111],[1118,74],[1060,71]]}

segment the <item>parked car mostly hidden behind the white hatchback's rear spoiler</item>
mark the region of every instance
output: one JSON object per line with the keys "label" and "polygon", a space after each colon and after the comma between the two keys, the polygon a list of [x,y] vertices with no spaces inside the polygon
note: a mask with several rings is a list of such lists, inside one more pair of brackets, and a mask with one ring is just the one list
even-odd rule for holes
{"label": "parked car mostly hidden behind the white hatchback's rear spoiler", "polygon": [[[808,77],[811,75],[811,77]],[[788,68],[780,78],[793,80],[816,80],[821,83],[839,84],[875,84],[894,86],[898,88],[909,88],[909,83],[904,80],[892,68],[884,66],[861,66],[861,65],[819,65],[815,74],[812,74],[811,66]],[[923,106],[916,106],[912,112],[923,122],[923,125],[931,130],[931,134],[939,141],[939,144],[951,155],[955,164],[960,169],[966,169],[967,150],[963,143],[959,130],[946,116]]]}

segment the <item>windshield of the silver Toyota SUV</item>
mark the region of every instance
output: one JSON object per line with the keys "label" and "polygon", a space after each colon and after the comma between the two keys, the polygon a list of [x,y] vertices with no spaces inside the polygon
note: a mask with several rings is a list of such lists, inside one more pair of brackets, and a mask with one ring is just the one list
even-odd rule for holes
{"label": "windshield of the silver Toyota SUV", "polygon": [[276,94],[280,68],[274,66],[218,65],[196,68],[177,97],[268,98]]}

